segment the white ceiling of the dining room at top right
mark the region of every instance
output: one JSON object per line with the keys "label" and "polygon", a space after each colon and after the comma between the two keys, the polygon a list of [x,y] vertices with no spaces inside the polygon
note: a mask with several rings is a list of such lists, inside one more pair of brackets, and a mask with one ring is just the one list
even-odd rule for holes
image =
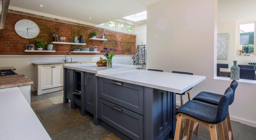
{"label": "white ceiling of the dining room at top right", "polygon": [[218,0],[218,23],[256,20],[255,0]]}

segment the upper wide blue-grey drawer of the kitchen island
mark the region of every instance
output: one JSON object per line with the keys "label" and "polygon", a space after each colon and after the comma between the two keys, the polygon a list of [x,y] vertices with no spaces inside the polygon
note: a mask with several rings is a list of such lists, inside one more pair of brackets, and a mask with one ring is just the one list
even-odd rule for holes
{"label": "upper wide blue-grey drawer of the kitchen island", "polygon": [[100,77],[99,97],[143,115],[143,86]]}

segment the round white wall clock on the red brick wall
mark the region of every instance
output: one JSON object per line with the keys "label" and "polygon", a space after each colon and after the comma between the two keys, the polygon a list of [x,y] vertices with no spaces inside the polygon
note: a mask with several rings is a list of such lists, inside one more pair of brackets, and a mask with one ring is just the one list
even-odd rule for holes
{"label": "round white wall clock on the red brick wall", "polygon": [[39,34],[37,23],[28,19],[19,20],[14,28],[19,36],[27,39],[35,38]]}

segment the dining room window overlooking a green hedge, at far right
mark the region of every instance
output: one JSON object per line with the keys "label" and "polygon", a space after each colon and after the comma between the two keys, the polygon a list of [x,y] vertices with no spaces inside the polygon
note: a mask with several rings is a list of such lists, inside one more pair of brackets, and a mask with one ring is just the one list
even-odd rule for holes
{"label": "dining room window overlooking a green hedge, at far right", "polygon": [[239,25],[239,50],[242,53],[254,52],[255,41],[255,23],[247,23]]}

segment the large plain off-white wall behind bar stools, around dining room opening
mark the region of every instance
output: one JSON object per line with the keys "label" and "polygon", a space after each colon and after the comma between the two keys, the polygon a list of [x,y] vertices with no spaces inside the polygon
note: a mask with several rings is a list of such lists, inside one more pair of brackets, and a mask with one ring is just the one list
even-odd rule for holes
{"label": "large plain off-white wall behind bar stools, around dining room opening", "polygon": [[[216,49],[217,0],[164,0],[147,6],[147,68],[206,76],[192,89],[192,97],[201,91],[224,94],[230,85],[231,80],[214,79]],[[239,82],[229,106],[231,120],[256,127],[255,87]]]}

